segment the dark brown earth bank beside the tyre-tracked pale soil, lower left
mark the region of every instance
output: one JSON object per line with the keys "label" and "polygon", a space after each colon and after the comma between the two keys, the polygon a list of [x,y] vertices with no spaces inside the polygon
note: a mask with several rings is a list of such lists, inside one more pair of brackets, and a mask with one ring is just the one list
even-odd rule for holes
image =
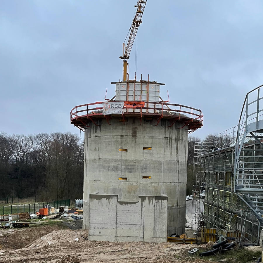
{"label": "dark brown earth bank beside the tyre-tracked pale soil, lower left", "polygon": [[56,230],[57,227],[51,226],[41,226],[41,227],[32,227],[24,229],[15,229],[13,231],[4,231],[1,233],[0,238],[0,248],[1,249],[19,249],[24,248],[30,244],[33,240],[40,238],[53,230]]}

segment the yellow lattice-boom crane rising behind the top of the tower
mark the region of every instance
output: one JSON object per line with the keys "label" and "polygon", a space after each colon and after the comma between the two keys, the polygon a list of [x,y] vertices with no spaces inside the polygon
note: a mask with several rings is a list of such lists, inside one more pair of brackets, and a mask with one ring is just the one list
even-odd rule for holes
{"label": "yellow lattice-boom crane rising behind the top of the tower", "polygon": [[134,7],[137,7],[134,19],[132,20],[131,23],[131,27],[130,27],[130,35],[129,35],[129,39],[127,42],[127,46],[125,46],[125,44],[122,44],[122,48],[123,48],[123,56],[120,56],[120,59],[123,59],[123,81],[127,81],[127,75],[128,74],[128,59],[130,57],[130,53],[131,53],[131,48],[134,42],[134,39],[136,37],[137,34],[137,30],[139,25],[141,25],[142,23],[142,15],[143,15],[143,11],[145,8],[147,0],[139,0],[137,2],[137,5]]}

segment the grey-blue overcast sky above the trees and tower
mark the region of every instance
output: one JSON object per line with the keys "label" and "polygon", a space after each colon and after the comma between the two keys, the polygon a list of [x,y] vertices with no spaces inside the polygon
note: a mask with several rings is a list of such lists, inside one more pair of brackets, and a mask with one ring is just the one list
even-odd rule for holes
{"label": "grey-blue overcast sky above the trees and tower", "polygon": [[[136,0],[9,0],[0,4],[0,131],[71,131],[70,110],[115,94]],[[165,83],[170,103],[200,108],[200,138],[238,123],[263,83],[263,1],[148,0],[137,76]],[[129,59],[134,76],[135,48]],[[130,77],[131,78],[131,77]]]}

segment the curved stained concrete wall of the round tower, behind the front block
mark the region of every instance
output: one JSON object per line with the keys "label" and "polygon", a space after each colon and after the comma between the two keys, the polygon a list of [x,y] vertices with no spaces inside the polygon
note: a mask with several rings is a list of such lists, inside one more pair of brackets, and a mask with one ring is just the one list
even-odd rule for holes
{"label": "curved stained concrete wall of the round tower, behind the front block", "polygon": [[[187,127],[168,120],[128,122],[105,119],[85,129],[84,219],[89,226],[89,195],[118,195],[120,202],[138,202],[139,195],[168,196],[168,234],[185,231]],[[140,125],[141,124],[141,125]],[[152,150],[143,150],[152,147]],[[127,152],[119,148],[128,149]],[[143,176],[151,176],[144,179]],[[127,177],[127,181],[119,180]]]}

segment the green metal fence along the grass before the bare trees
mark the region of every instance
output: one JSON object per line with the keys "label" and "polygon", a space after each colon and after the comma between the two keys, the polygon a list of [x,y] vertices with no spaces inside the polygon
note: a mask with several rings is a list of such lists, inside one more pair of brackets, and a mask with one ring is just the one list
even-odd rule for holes
{"label": "green metal fence along the grass before the bare trees", "polygon": [[60,206],[70,206],[70,199],[53,201],[49,203],[32,203],[23,205],[4,205],[0,207],[0,216],[4,214],[16,214],[28,212],[29,214],[35,214],[40,208],[44,208],[45,205],[50,205],[50,207],[60,207]]}

